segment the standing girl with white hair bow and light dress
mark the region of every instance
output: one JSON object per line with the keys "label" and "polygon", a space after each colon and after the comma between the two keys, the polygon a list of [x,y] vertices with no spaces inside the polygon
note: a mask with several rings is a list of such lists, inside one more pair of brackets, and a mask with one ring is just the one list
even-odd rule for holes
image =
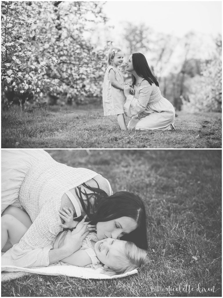
{"label": "standing girl with white hair bow and light dress", "polygon": [[[104,115],[117,115],[117,121],[121,129],[126,129],[125,119],[124,119],[124,88],[126,84],[124,83],[124,78],[121,69],[123,63],[123,52],[119,48],[111,48],[107,58],[107,69],[105,72],[102,100]],[[134,92],[130,88],[131,92]],[[134,94],[134,93],[133,93]]]}

